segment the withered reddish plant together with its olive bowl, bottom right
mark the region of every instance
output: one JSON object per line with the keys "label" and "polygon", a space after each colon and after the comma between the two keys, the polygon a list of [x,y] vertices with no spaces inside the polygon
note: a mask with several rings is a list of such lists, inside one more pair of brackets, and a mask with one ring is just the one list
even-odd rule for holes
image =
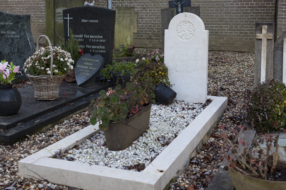
{"label": "withered reddish plant together with its olive bowl, bottom right", "polygon": [[[221,128],[223,128],[222,126]],[[278,138],[279,136],[265,134],[263,138],[256,136],[249,147],[245,142],[244,132],[247,128],[241,128],[241,137],[233,129],[235,136],[221,134],[225,140],[222,153],[227,159],[231,179],[237,190],[263,190],[263,189],[286,189],[286,163],[279,161]],[[261,144],[266,143],[266,148]],[[271,147],[275,151],[271,153]],[[233,156],[230,156],[229,150]]]}

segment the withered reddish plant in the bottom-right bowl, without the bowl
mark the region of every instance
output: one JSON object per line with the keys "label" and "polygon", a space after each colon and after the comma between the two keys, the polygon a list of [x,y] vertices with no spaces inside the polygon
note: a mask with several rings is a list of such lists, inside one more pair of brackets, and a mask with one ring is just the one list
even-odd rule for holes
{"label": "withered reddish plant in the bottom-right bowl, without the bowl", "polygon": [[[223,128],[224,126],[221,126]],[[235,136],[221,134],[221,137],[225,140],[225,144],[222,149],[223,155],[229,163],[228,167],[224,169],[233,168],[240,173],[249,175],[252,177],[266,179],[267,172],[273,174],[277,169],[278,154],[278,138],[279,135],[264,135],[264,138],[259,139],[255,137],[252,147],[249,148],[245,142],[244,132],[247,128],[242,128],[241,136],[237,135],[239,132],[235,129],[232,131]],[[261,144],[266,143],[266,148],[262,148]],[[271,154],[271,147],[275,147],[275,152]],[[258,147],[258,149],[256,149]],[[227,154],[229,150],[233,156]],[[276,174],[275,174],[276,175]]]}

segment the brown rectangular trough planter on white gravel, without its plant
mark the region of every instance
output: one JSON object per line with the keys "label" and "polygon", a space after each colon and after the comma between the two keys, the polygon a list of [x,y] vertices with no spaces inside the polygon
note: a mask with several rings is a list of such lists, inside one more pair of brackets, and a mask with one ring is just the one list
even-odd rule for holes
{"label": "brown rectangular trough planter on white gravel, without its plant", "polygon": [[109,150],[124,150],[149,128],[151,104],[141,111],[119,122],[109,122],[104,131],[106,146]]}

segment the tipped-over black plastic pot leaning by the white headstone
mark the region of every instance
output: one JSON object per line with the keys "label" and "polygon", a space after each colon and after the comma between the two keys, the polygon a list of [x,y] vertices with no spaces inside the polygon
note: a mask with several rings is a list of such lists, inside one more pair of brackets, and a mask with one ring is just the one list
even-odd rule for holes
{"label": "tipped-over black plastic pot leaning by the white headstone", "polygon": [[177,96],[177,93],[171,89],[168,85],[159,83],[154,90],[155,98],[157,102],[163,105],[170,105]]}

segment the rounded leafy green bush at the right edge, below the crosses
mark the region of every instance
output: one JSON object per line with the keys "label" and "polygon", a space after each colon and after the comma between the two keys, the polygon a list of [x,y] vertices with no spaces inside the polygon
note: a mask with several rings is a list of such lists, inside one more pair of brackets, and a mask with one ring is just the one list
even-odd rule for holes
{"label": "rounded leafy green bush at the right edge, below the crosses", "polygon": [[271,132],[285,128],[286,91],[282,81],[267,80],[256,87],[250,97],[249,119],[257,131]]}

